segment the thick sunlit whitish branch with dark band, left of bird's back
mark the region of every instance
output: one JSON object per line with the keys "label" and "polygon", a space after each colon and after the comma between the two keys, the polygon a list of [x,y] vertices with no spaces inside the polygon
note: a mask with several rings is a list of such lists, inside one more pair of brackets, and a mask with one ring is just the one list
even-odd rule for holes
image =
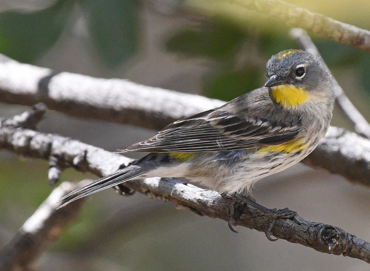
{"label": "thick sunlit whitish branch with dark band, left of bird's back", "polygon": [[225,102],[147,87],[128,80],[102,79],[21,64],[0,54],[0,101],[48,108],[159,130],[167,124]]}

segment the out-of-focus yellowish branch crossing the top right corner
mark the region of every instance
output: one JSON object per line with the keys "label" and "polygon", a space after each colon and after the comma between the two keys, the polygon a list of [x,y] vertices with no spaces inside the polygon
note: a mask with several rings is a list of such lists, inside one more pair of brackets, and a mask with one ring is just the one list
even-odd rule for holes
{"label": "out-of-focus yellowish branch crossing the top right corner", "polygon": [[234,19],[245,24],[248,11],[264,13],[274,20],[292,27],[299,27],[325,39],[344,43],[370,52],[370,31],[342,23],[323,14],[280,0],[188,0],[188,7],[201,13]]}

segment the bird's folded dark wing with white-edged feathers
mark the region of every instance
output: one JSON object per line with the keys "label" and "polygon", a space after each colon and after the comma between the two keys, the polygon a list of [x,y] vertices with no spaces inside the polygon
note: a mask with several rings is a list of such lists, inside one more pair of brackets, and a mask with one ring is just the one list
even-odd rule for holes
{"label": "bird's folded dark wing with white-edged feathers", "polygon": [[242,119],[220,109],[169,124],[162,131],[123,151],[203,152],[277,145],[295,138],[297,126],[282,127],[258,117]]}

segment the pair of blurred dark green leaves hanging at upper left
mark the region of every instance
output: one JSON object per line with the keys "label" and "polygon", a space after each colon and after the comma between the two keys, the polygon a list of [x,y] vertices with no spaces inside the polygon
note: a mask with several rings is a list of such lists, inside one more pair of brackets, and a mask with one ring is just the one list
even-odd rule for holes
{"label": "pair of blurred dark green leaves hanging at upper left", "polygon": [[0,14],[0,53],[33,63],[54,46],[75,6],[80,6],[98,56],[108,67],[128,60],[137,49],[137,11],[131,0],[60,0],[33,12]]}

